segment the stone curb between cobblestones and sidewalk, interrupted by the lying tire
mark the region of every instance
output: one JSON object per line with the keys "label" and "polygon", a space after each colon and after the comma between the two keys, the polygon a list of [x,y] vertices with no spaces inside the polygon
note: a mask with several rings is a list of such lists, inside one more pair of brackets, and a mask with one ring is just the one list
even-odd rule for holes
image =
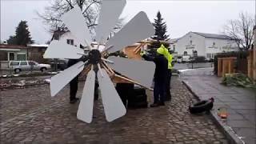
{"label": "stone curb between cobblestones and sidewalk, interrupted by the lying tire", "polygon": [[[185,84],[188,90],[190,90],[191,94],[200,100],[198,95],[194,93],[192,88],[185,81],[182,80],[182,83]],[[214,123],[217,124],[218,127],[220,127],[220,130],[222,130],[222,132],[226,135],[226,138],[230,144],[245,144],[245,142],[238,138],[238,135],[234,133],[230,126],[227,126],[224,122],[222,122],[222,120],[218,118],[218,115],[214,113],[213,110],[210,110],[210,116],[214,120]]]}

